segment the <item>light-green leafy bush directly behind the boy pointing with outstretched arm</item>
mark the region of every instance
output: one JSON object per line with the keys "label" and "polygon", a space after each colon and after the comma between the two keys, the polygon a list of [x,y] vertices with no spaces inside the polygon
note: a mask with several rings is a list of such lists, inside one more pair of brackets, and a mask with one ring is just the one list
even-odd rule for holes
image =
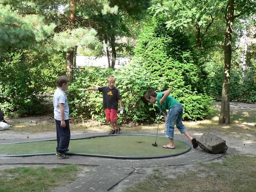
{"label": "light-green leafy bush directly behind the boy pointing with outstretched arm", "polygon": [[122,96],[124,115],[119,115],[122,122],[146,121],[150,118],[145,110],[148,105],[144,93],[148,88],[148,74],[138,65],[127,65],[116,70],[110,68],[88,67],[76,71],[68,88],[71,115],[76,118],[92,118],[105,121],[102,93],[86,91],[83,88],[107,86],[107,77],[114,75],[116,87]]}

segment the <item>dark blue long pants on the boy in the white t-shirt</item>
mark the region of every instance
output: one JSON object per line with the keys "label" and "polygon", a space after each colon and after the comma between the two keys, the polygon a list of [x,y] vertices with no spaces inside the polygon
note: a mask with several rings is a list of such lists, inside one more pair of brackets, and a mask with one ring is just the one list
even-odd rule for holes
{"label": "dark blue long pants on the boy in the white t-shirt", "polygon": [[69,141],[70,141],[69,120],[65,120],[65,123],[66,123],[65,128],[60,126],[60,121],[55,120],[55,122],[56,122],[56,131],[57,131],[56,151],[63,153],[68,149]]}

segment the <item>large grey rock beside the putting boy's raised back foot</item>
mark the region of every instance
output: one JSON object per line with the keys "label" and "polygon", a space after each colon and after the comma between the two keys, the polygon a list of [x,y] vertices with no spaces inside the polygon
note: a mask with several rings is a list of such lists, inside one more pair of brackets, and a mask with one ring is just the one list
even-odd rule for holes
{"label": "large grey rock beside the putting boy's raised back foot", "polygon": [[204,133],[198,139],[198,145],[209,153],[225,153],[228,150],[226,141],[210,133]]}

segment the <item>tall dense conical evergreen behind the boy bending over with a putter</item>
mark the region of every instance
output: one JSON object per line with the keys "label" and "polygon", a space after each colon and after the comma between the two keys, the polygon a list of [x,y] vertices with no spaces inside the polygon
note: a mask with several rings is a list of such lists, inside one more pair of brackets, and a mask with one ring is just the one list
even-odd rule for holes
{"label": "tall dense conical evergreen behind the boy bending over with a putter", "polygon": [[149,88],[166,89],[184,106],[184,118],[202,119],[210,110],[212,98],[206,94],[207,73],[179,31],[166,29],[164,20],[148,22],[139,36],[135,58],[150,73]]}

